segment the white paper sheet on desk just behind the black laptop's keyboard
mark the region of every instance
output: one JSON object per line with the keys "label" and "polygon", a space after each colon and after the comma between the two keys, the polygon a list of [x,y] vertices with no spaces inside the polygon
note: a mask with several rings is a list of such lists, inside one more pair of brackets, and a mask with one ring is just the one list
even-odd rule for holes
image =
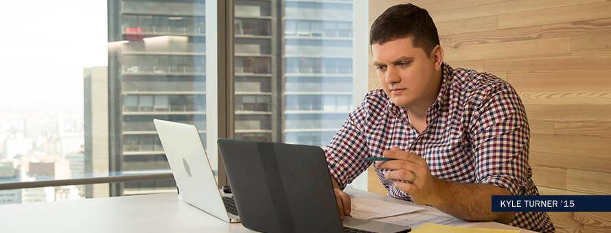
{"label": "white paper sheet on desk just behind the black laptop's keyboard", "polygon": [[424,209],[417,206],[394,204],[371,197],[355,197],[350,201],[352,204],[350,215],[355,219],[380,219]]}

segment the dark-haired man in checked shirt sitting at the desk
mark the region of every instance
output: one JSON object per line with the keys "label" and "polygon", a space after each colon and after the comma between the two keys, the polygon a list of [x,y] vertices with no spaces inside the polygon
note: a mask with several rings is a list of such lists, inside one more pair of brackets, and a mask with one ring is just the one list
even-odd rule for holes
{"label": "dark-haired man in checked shirt sitting at the desk", "polygon": [[433,19],[395,5],[371,26],[372,90],[327,147],[338,208],[343,189],[371,162],[389,196],[434,206],[470,221],[498,221],[538,232],[555,229],[545,212],[492,212],[492,195],[538,195],[528,164],[529,125],[522,101],[488,73],[452,69]]}

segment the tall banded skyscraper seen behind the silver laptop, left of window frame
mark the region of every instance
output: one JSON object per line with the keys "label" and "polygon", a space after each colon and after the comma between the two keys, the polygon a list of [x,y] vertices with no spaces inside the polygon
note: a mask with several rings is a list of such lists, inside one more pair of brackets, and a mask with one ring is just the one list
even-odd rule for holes
{"label": "tall banded skyscraper seen behind the silver laptop, left of window frame", "polygon": [[[153,119],[197,125],[205,140],[205,1],[110,0],[111,172],[169,171]],[[174,180],[125,182],[111,195],[176,191]]]}

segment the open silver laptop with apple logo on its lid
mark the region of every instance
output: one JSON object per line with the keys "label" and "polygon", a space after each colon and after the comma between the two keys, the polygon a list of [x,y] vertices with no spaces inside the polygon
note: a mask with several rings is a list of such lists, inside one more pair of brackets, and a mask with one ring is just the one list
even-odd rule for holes
{"label": "open silver laptop with apple logo on its lid", "polygon": [[239,223],[233,197],[222,195],[195,125],[153,120],[176,186],[188,204],[228,223]]}

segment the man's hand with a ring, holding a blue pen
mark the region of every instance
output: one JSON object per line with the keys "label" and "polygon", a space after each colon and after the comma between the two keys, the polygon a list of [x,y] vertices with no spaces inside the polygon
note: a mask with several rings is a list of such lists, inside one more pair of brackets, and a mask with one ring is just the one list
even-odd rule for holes
{"label": "man's hand with a ring, holding a blue pen", "polygon": [[377,167],[391,170],[386,178],[392,180],[395,187],[411,195],[417,204],[439,204],[437,193],[441,182],[430,174],[424,158],[401,151],[399,147],[384,151],[384,157],[395,160],[377,162]]}

